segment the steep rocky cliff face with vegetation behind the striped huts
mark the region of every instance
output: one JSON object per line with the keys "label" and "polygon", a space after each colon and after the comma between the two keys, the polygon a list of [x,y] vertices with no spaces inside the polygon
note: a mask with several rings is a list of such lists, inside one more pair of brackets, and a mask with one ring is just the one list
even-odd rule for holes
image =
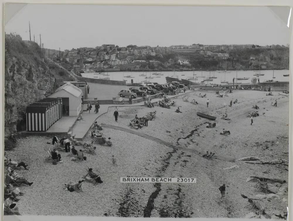
{"label": "steep rocky cliff face with vegetation behind the striped huts", "polygon": [[52,94],[57,87],[55,78],[71,80],[54,63],[43,62],[38,44],[8,34],[5,35],[4,75],[5,136],[16,130],[25,130],[20,125],[25,121],[26,106]]}

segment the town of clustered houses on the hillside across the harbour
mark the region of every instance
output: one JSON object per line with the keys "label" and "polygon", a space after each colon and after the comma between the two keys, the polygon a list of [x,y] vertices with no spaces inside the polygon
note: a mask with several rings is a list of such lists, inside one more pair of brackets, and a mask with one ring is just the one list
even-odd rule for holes
{"label": "town of clustered houses on the hillside across the harbour", "polygon": [[[173,45],[169,47],[151,47],[128,45],[120,47],[115,44],[103,44],[96,48],[83,47],[79,49],[64,50],[62,52],[45,49],[45,56],[54,61],[64,63],[67,68],[74,68],[79,72],[93,72],[94,70],[109,69],[107,71],[119,70],[141,70],[141,69],[166,69],[166,68],[190,68],[191,58],[188,53],[197,56],[197,59],[225,60],[231,59],[231,51],[245,49],[276,49],[288,48],[289,44],[259,46],[246,45]],[[54,53],[55,51],[55,53]],[[184,56],[185,55],[185,56]],[[176,59],[176,58],[180,59]],[[250,56],[251,61],[255,56]],[[194,59],[193,59],[194,60]]]}

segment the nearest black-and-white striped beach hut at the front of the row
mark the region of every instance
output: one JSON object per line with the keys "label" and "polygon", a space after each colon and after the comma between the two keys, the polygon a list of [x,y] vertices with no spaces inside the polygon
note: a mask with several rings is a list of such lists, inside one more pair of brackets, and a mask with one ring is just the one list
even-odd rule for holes
{"label": "nearest black-and-white striped beach hut at the front of the row", "polygon": [[46,105],[27,106],[26,130],[45,132],[48,126],[49,107]]}

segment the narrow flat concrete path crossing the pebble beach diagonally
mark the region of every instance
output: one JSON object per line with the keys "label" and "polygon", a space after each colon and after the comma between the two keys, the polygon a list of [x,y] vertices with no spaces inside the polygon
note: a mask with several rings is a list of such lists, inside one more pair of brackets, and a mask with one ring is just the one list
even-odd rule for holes
{"label": "narrow flat concrete path crossing the pebble beach diagonally", "polygon": [[[193,149],[188,149],[188,148],[183,148],[183,147],[180,147],[180,146],[175,146],[169,142],[166,142],[166,141],[163,141],[163,140],[160,140],[156,137],[151,137],[147,134],[143,134],[143,133],[140,133],[137,131],[137,129],[132,129],[132,128],[124,128],[124,127],[117,127],[117,126],[114,126],[114,125],[108,125],[108,124],[103,124],[103,127],[106,127],[106,128],[111,128],[111,129],[115,129],[115,130],[122,130],[122,131],[125,131],[125,132],[128,132],[128,133],[131,133],[131,134],[136,134],[137,136],[140,136],[140,137],[144,137],[146,139],[149,139],[149,140],[152,140],[152,141],[155,141],[157,143],[160,143],[160,144],[163,144],[163,145],[166,145],[168,147],[171,147],[171,148],[176,148],[178,150],[181,150],[181,151],[188,151],[188,152],[192,152],[192,153],[197,153],[197,154],[200,154],[202,155],[199,151],[197,150],[193,150]],[[235,162],[235,159],[234,158],[231,158],[231,157],[222,157],[222,156],[214,156],[213,158],[216,158],[216,159],[219,159],[219,160],[226,160],[226,161],[231,161],[231,162]]]}

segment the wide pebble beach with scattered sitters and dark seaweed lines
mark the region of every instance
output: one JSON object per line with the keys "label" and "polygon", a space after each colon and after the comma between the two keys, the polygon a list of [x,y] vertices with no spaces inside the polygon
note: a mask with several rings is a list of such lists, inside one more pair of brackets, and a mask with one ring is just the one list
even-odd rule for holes
{"label": "wide pebble beach with scattered sitters and dark seaweed lines", "polygon": [[[188,92],[188,91],[187,91]],[[197,95],[206,94],[205,98]],[[223,93],[223,91],[220,91]],[[247,199],[255,198],[255,183],[246,182],[250,176],[286,180],[288,166],[249,164],[244,161],[227,161],[203,158],[206,151],[216,156],[239,159],[255,156],[262,160],[288,160],[289,98],[272,91],[234,90],[228,96],[216,97],[215,91],[192,91],[188,102],[181,96],[176,107],[170,109],[155,106],[117,107],[118,122],[113,116],[115,107],[100,116],[98,124],[114,125],[131,129],[129,120],[156,110],[156,118],[142,129],[131,129],[168,142],[164,145],[133,133],[103,127],[106,138],[111,137],[113,146],[96,144],[96,155],[85,154],[82,162],[71,161],[68,153],[60,152],[63,163],[52,165],[45,162],[46,151],[53,149],[53,137],[30,136],[18,139],[17,147],[7,151],[9,158],[24,161],[29,170],[17,170],[31,187],[21,187],[25,193],[18,202],[21,215],[88,215],[118,217],[233,217],[243,218],[251,212],[244,206]],[[199,104],[191,104],[195,99]],[[209,107],[206,102],[209,99]],[[238,100],[229,107],[231,100]],[[277,100],[277,107],[271,103]],[[248,113],[258,105],[260,116],[253,119]],[[176,113],[179,106],[182,113]],[[216,127],[207,128],[208,119],[197,112],[216,116]],[[263,113],[265,113],[263,115]],[[228,114],[231,120],[221,117]],[[230,135],[220,135],[225,129]],[[135,132],[134,132],[135,133]],[[89,132],[84,141],[91,141]],[[76,149],[79,149],[76,146]],[[117,165],[112,164],[112,155]],[[224,168],[237,165],[238,168]],[[82,184],[80,193],[65,191],[62,185],[77,182],[86,175],[87,166],[100,172],[103,184]],[[286,170],[287,169],[287,170]],[[265,173],[264,173],[265,172]],[[120,177],[192,177],[197,183],[120,183]],[[226,196],[220,201],[218,188],[226,184]],[[285,198],[285,200],[283,199]],[[287,211],[288,196],[258,201],[268,215]],[[268,218],[268,217],[267,217]]]}

